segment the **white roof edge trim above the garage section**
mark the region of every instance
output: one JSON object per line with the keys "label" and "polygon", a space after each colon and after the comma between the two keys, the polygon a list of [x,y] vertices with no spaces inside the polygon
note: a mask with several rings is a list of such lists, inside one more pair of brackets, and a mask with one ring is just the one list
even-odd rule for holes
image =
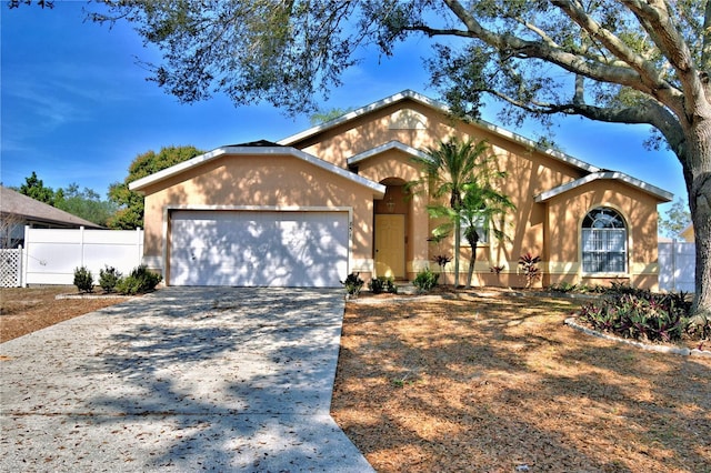
{"label": "white roof edge trim above the garage section", "polygon": [[317,157],[306,153],[301,150],[291,147],[283,145],[269,145],[268,142],[256,142],[261,143],[257,145],[241,145],[241,147],[222,147],[217,148],[210,152],[204,154],[200,154],[194,157],[188,161],[183,161],[179,164],[174,164],[170,168],[163,169],[162,171],[158,171],[151,175],[147,175],[146,178],[138,179],[129,184],[129,189],[132,191],[140,191],[148,185],[160,182],[164,179],[171,178],[173,175],[180,174],[188,170],[194,169],[199,165],[202,165],[209,161],[218,159],[223,155],[291,155],[293,158],[306,161],[310,164],[313,164],[318,168],[321,168],[326,171],[332,172],[333,174],[340,175],[341,178],[348,179],[349,181],[356,182],[360,185],[363,185],[368,189],[371,189],[375,194],[382,197],[385,193],[385,187],[373,182],[369,179],[354,174],[346,169],[339,168],[330,162],[326,162],[323,160],[318,159]]}

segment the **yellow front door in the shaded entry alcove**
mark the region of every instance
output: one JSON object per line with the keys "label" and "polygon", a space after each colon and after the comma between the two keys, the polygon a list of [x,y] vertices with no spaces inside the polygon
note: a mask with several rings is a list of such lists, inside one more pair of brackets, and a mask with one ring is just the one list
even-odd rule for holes
{"label": "yellow front door in the shaded entry alcove", "polygon": [[404,215],[375,215],[375,275],[404,279]]}

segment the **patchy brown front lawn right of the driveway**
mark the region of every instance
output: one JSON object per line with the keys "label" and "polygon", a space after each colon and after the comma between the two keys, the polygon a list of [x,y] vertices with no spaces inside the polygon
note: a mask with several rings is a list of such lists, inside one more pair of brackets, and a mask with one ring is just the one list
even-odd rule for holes
{"label": "patchy brown front lawn right of the driveway", "polygon": [[347,305],[332,415],[378,471],[711,471],[711,360],[460,294]]}

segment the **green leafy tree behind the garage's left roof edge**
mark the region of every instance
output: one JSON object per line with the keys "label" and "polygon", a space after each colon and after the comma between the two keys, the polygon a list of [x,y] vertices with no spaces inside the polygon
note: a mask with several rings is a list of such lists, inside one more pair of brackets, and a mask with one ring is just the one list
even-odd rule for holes
{"label": "green leafy tree behind the garage's left roof edge", "polygon": [[166,147],[158,153],[151,150],[136,157],[123,182],[109,188],[109,200],[118,207],[118,211],[107,222],[109,228],[132,230],[143,227],[143,195],[129,189],[131,182],[202,153],[196,147],[188,145]]}

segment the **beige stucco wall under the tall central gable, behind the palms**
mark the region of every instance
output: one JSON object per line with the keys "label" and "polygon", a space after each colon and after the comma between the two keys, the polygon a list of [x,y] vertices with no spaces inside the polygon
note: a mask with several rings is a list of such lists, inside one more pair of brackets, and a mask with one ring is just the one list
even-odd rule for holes
{"label": "beige stucco wall under the tall central gable, behind the palms", "polygon": [[[545,205],[537,204],[534,195],[583,177],[585,173],[580,169],[534,150],[527,143],[502,137],[477,124],[454,121],[438,110],[411,100],[384,107],[372,114],[349,121],[293,145],[337,165],[346,167],[348,158],[390,141],[400,141],[424,151],[428,148],[437,148],[440,140],[447,140],[452,135],[462,140],[489,142],[491,152],[499,162],[499,169],[507,171],[507,178],[500,181],[500,190],[515,204],[515,210],[505,217],[507,241],[494,241],[478,250],[477,280],[482,284],[521,285],[524,280],[518,274],[519,256],[525,252],[542,255],[545,250]],[[360,175],[375,182],[385,178],[401,178],[404,181],[419,178],[411,157],[395,150],[363,160],[358,167]],[[414,276],[423,262],[431,262],[438,252],[433,244],[427,242],[438,222],[424,223],[428,221],[423,209],[427,198],[418,199],[419,211],[409,215],[409,279]],[[452,254],[453,238],[444,244],[449,245],[447,250]],[[463,246],[460,253],[462,271],[468,270],[470,255],[471,250]],[[437,269],[437,265],[430,265]],[[505,271],[497,276],[490,273],[493,265],[503,265]],[[447,270],[453,271],[453,263],[450,263]],[[449,282],[453,282],[453,279],[449,278]],[[460,281],[464,282],[463,276]]]}

